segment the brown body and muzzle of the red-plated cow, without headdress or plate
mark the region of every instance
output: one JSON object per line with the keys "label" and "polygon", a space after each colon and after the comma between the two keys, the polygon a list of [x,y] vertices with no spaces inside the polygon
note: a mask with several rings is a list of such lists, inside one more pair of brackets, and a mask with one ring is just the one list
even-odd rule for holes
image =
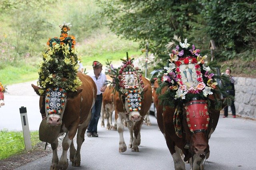
{"label": "brown body and muzzle of the red-plated cow, without headdress or plate", "polygon": [[177,110],[175,108],[165,107],[163,111],[163,106],[158,104],[158,126],[166,138],[166,144],[174,160],[175,169],[185,170],[184,162],[187,161],[190,162],[191,169],[193,168],[193,170],[201,170],[204,168],[202,163],[210,154],[208,140],[212,132],[214,132],[220,116],[220,111],[214,109],[213,96],[210,95],[209,99],[211,100],[211,107],[208,108],[210,117],[208,129],[206,131],[196,130],[190,132],[186,120],[186,110],[183,107],[181,111],[181,137],[176,135],[174,128],[174,113]]}

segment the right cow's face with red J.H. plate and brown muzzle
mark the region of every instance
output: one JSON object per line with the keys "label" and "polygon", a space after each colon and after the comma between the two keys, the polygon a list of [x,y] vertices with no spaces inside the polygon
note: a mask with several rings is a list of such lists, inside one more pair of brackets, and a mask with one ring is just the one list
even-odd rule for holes
{"label": "right cow's face with red J.H. plate and brown muzzle", "polygon": [[184,104],[183,118],[186,140],[190,142],[189,151],[205,155],[209,152],[207,129],[210,120],[206,101],[194,100]]}

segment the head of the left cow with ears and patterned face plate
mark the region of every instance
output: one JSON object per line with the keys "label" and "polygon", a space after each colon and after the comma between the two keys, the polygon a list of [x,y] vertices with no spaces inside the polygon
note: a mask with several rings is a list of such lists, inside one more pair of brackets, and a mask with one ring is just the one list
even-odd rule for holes
{"label": "head of the left cow with ears and patterned face plate", "polygon": [[[32,84],[34,91],[39,95],[40,87]],[[65,111],[67,99],[73,99],[82,92],[81,89],[77,91],[65,91],[64,89],[54,88],[44,91],[42,96],[42,103],[40,103],[40,113],[46,114],[46,122],[48,125],[60,126],[62,125],[62,117]]]}

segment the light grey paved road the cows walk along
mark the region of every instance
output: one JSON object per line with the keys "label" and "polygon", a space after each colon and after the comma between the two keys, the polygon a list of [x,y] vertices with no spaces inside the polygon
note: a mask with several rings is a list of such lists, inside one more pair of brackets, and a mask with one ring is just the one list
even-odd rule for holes
{"label": "light grey paved road the cows walk along", "polygon": [[[39,97],[34,95],[32,87],[24,96],[21,92],[5,95],[5,106],[0,108],[0,130],[22,130],[19,107],[27,107],[30,130],[38,130],[41,116],[39,113]],[[17,91],[21,91],[22,88]],[[9,90],[9,89],[8,89]],[[24,91],[25,93],[25,91]],[[106,130],[98,126],[98,138],[85,138],[82,145],[81,166],[70,170],[173,170],[174,164],[161,132],[158,130],[156,119],[150,117],[152,126],[142,126],[140,152],[118,153],[119,135],[117,131]],[[100,124],[99,124],[100,125]],[[222,118],[210,138],[210,158],[206,170],[255,170],[256,158],[256,121],[242,118]],[[126,144],[129,142],[128,129],[125,129]],[[60,157],[60,152],[58,153]],[[52,154],[30,162],[17,170],[47,170],[50,167]],[[186,164],[186,169],[189,169]]]}

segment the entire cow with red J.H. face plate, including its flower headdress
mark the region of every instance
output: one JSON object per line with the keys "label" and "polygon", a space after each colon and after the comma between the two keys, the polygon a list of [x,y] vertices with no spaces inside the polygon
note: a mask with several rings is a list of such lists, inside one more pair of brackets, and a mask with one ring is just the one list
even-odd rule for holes
{"label": "entire cow with red J.H. face plate, including its flower headdress", "polygon": [[[184,162],[190,162],[192,169],[203,169],[202,163],[208,158],[208,139],[215,130],[220,109],[232,100],[217,83],[228,81],[214,73],[218,65],[207,63],[206,55],[187,40],[174,39],[178,45],[169,55],[161,55],[167,65],[160,75],[157,121],[174,160],[175,169],[185,170]],[[161,65],[161,64],[160,64]],[[163,65],[163,64],[162,64]],[[183,156],[181,156],[183,155]],[[182,160],[183,159],[183,160]]]}

